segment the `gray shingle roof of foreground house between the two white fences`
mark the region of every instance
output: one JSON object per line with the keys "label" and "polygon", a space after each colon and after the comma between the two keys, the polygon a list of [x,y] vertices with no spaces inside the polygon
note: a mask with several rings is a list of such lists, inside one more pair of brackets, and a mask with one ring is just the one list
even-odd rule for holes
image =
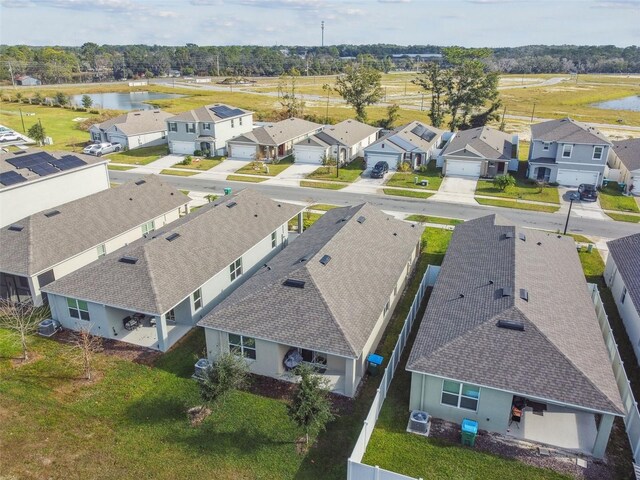
{"label": "gray shingle roof of foreground house between the two white fences", "polygon": [[[503,296],[503,287],[514,293]],[[499,320],[520,321],[524,331]],[[456,227],[407,369],[624,411],[575,243],[496,215]]]}

